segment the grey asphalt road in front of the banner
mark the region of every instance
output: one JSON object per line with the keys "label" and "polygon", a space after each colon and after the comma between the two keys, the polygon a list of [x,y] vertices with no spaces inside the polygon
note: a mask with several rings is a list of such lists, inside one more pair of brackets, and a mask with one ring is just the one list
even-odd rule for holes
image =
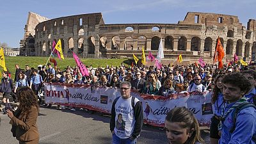
{"label": "grey asphalt road in front of the banner", "polygon": [[[4,106],[2,106],[3,108]],[[38,129],[40,132],[40,144],[70,144],[70,143],[111,143],[109,131],[109,115],[102,113],[88,113],[85,110],[70,111],[57,110],[56,107],[40,108],[38,116]],[[0,144],[18,143],[10,132],[10,118],[0,113]],[[201,131],[204,140],[209,143],[208,131]],[[141,131],[138,143],[167,144],[164,131],[159,127],[145,127]]]}

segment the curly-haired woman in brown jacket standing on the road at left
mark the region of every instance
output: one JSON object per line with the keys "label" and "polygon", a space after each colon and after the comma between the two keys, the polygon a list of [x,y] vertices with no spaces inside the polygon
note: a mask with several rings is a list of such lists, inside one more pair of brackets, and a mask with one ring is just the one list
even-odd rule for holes
{"label": "curly-haired woman in brown jacket standing on the road at left", "polygon": [[37,144],[39,142],[36,125],[39,111],[37,97],[31,88],[24,86],[17,90],[17,98],[20,102],[17,111],[13,114],[12,111],[7,110],[8,117],[11,118],[12,134],[20,144]]}

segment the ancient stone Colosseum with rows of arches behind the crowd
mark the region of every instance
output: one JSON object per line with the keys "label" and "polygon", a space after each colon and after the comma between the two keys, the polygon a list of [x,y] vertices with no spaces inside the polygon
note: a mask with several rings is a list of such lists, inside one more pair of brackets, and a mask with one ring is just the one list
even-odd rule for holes
{"label": "ancient stone Colosseum with rows of arches behind the crowd", "polygon": [[49,56],[52,41],[61,40],[63,54],[80,58],[112,58],[141,56],[141,49],[156,56],[162,39],[164,60],[184,61],[199,58],[211,62],[218,36],[225,51],[224,60],[234,54],[246,61],[255,60],[256,20],[249,19],[247,28],[237,16],[216,13],[188,12],[177,24],[105,24],[102,13],[89,13],[47,19],[29,12],[20,55]]}

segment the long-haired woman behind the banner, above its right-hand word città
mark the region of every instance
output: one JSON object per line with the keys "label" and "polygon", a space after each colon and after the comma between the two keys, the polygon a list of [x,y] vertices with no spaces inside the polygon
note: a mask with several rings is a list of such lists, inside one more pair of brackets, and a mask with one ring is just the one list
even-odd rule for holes
{"label": "long-haired woman behind the banner, above its right-hand word citt\u00e0", "polygon": [[147,93],[149,95],[157,95],[160,87],[161,85],[157,83],[156,74],[150,73],[148,74],[148,79],[145,82],[143,93]]}

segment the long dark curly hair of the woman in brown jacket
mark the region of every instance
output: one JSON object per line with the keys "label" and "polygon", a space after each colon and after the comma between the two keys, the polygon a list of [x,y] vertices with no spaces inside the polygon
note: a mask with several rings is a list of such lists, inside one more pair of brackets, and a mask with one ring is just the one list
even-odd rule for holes
{"label": "long dark curly hair of the woman in brown jacket", "polygon": [[17,90],[17,98],[19,99],[19,109],[22,111],[22,113],[28,113],[31,106],[35,106],[37,111],[39,111],[37,97],[33,90],[28,86],[24,86]]}

